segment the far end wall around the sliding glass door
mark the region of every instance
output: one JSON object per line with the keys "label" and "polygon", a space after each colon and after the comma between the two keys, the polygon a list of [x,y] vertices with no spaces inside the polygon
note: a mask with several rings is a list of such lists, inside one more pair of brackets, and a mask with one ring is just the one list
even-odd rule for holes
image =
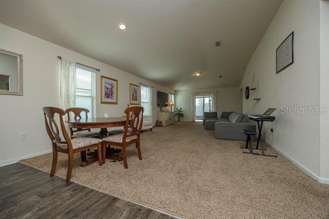
{"label": "far end wall around the sliding glass door", "polygon": [[242,91],[239,87],[211,88],[200,90],[176,90],[176,108],[182,107],[184,118],[182,121],[192,121],[191,93],[217,92],[217,116],[223,111],[242,112]]}

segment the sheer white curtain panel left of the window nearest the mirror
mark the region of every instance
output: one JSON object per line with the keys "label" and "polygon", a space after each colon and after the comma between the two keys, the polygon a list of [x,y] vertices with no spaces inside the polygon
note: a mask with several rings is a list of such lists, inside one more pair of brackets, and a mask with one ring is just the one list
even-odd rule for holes
{"label": "sheer white curtain panel left of the window nearest the mirror", "polygon": [[76,106],[76,63],[61,60],[61,105],[65,110]]}

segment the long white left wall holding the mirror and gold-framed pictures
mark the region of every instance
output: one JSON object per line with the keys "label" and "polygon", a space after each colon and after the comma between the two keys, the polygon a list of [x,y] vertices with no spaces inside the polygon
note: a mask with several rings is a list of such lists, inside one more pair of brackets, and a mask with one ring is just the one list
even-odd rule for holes
{"label": "long white left wall holding the mirror and gold-framed pictures", "polygon": [[[154,86],[153,118],[157,119],[157,90],[172,92],[151,81],[90,59],[79,53],[54,45],[22,31],[0,24],[0,48],[23,54],[24,96],[0,95],[0,165],[11,159],[50,150],[42,113],[44,106],[60,107],[60,61],[57,56],[99,68],[100,75],[118,79],[118,104],[100,104],[97,93],[97,115],[122,116],[129,102],[129,83]],[[99,89],[97,89],[99,92]],[[28,133],[27,140],[20,140],[20,133]],[[9,160],[9,161],[8,161]]]}

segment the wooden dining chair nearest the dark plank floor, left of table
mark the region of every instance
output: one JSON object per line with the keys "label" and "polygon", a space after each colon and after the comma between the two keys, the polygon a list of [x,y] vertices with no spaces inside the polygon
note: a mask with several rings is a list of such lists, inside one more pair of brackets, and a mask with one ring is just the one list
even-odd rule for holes
{"label": "wooden dining chair nearest the dark plank floor, left of table", "polygon": [[[67,182],[70,181],[71,178],[73,168],[73,154],[75,153],[97,147],[99,166],[102,166],[101,139],[88,137],[70,139],[66,132],[63,121],[65,111],[57,107],[43,107],[42,109],[45,117],[46,130],[52,144],[52,166],[50,176],[53,176],[56,172],[58,152],[68,154],[68,169],[66,176]],[[59,127],[55,121],[56,114],[59,115],[60,130],[62,131],[62,136],[64,139],[61,138]]]}

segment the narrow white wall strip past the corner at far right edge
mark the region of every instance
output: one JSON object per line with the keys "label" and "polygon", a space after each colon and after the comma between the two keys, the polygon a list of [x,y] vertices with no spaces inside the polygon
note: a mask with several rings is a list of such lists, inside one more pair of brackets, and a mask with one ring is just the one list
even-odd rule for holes
{"label": "narrow white wall strip past the corner at far right edge", "polygon": [[[320,1],[320,104],[329,106],[329,1]],[[329,114],[320,115],[320,180],[329,179]],[[329,180],[327,180],[329,184]]]}

